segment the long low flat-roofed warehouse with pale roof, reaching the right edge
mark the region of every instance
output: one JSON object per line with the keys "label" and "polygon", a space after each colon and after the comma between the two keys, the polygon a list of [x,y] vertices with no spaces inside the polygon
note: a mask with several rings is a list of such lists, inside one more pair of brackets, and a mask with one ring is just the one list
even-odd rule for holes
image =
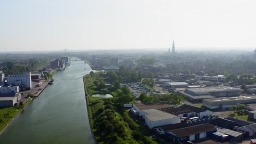
{"label": "long low flat-roofed warehouse with pale roof, reaching the right edge", "polygon": [[213,99],[203,99],[202,105],[209,109],[229,108],[236,104],[256,103],[255,96],[240,96],[240,97],[223,97]]}

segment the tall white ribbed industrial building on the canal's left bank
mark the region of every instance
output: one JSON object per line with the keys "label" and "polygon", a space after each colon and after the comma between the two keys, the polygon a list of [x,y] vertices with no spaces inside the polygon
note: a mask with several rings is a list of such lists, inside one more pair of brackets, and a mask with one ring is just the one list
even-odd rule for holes
{"label": "tall white ribbed industrial building on the canal's left bank", "polygon": [[23,75],[8,75],[7,83],[8,85],[19,86],[22,91],[31,89],[31,73]]}

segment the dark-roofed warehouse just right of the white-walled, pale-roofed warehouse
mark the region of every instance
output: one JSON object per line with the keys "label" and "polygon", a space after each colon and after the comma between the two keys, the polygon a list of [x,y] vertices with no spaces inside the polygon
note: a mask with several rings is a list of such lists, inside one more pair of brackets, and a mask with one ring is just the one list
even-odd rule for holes
{"label": "dark-roofed warehouse just right of the white-walled, pale-roofed warehouse", "polygon": [[211,111],[201,109],[200,107],[195,107],[191,105],[184,104],[180,107],[165,107],[159,109],[160,111],[171,113],[179,117],[210,117],[212,115]]}

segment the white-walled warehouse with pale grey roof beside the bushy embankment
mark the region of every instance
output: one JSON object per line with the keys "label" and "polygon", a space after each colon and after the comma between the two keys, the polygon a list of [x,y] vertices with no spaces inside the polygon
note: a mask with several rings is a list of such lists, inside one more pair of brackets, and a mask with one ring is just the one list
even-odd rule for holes
{"label": "white-walled warehouse with pale grey roof beside the bushy embankment", "polygon": [[162,112],[155,109],[144,110],[145,123],[150,129],[159,127],[161,125],[181,123],[181,119],[170,113]]}

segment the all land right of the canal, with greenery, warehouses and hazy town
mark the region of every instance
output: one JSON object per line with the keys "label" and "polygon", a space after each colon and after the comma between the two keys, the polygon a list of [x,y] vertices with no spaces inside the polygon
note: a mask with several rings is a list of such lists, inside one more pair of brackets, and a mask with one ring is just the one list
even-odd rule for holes
{"label": "all land right of the canal, with greenery, warehouses and hazy town", "polygon": [[[105,70],[84,77],[99,143],[256,142],[256,50],[179,53],[173,41],[165,53],[84,60],[94,70]],[[115,122],[109,110],[120,113],[114,117],[128,127]],[[121,135],[116,124],[131,134]],[[109,138],[103,142],[103,137]]]}

